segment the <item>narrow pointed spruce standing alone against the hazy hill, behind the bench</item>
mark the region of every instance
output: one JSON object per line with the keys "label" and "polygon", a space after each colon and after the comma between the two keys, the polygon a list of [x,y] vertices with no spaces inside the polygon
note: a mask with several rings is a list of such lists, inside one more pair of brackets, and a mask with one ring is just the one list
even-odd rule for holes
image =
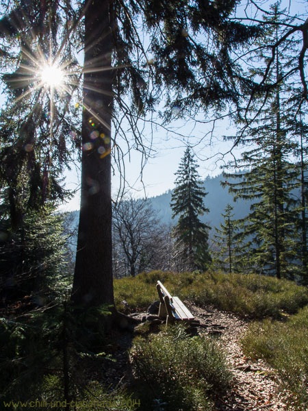
{"label": "narrow pointed spruce standing alone against the hazy hill, behind the bench", "polygon": [[197,172],[198,164],[190,147],[185,150],[175,175],[172,192],[172,218],[178,217],[174,236],[177,258],[183,270],[206,269],[211,257],[208,251],[209,226],[199,219],[209,212],[203,204],[207,195]]}

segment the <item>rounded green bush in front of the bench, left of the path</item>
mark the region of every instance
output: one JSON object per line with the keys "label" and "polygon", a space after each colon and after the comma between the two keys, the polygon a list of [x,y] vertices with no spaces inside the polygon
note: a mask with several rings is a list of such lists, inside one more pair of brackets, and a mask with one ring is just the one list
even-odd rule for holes
{"label": "rounded green bush in front of the bench, left of the path", "polygon": [[214,340],[189,337],[183,325],[149,338],[136,337],[131,363],[144,410],[153,409],[155,401],[164,403],[164,410],[211,410],[213,396],[231,379]]}

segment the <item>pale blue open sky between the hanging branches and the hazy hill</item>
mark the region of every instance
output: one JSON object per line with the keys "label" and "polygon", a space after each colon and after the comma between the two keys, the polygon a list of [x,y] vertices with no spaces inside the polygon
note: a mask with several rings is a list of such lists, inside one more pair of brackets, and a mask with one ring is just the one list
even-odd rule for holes
{"label": "pale blue open sky between the hanging branches and the hazy hill", "polygon": [[[198,173],[201,178],[207,175],[218,175],[221,173],[220,166],[225,164],[230,159],[227,153],[231,147],[231,143],[223,142],[222,136],[225,134],[233,134],[234,128],[229,121],[224,120],[217,125],[214,132],[210,135],[211,125],[198,124],[187,121],[177,121],[170,125],[170,129],[176,129],[177,135],[172,132],[166,132],[164,129],[158,129],[153,133],[153,155],[147,160],[142,171],[142,179],[140,177],[140,169],[142,157],[140,153],[132,150],[130,161],[125,164],[125,175],[127,182],[125,183],[125,192],[129,191],[134,197],[155,197],[166,192],[174,187],[175,173],[178,169],[179,162],[183,157],[185,147],[187,145],[196,145],[202,137],[203,142],[200,142],[194,147],[194,152],[198,160]],[[148,130],[148,138],[151,138],[151,130]],[[146,131],[145,133],[146,134]],[[183,134],[183,137],[178,134]],[[145,135],[146,137],[146,135]],[[236,151],[235,151],[236,152]],[[118,193],[119,173],[115,168],[115,175],[112,179],[113,197],[116,198]],[[141,181],[142,180],[142,181]],[[66,175],[66,185],[73,190],[80,186],[79,171],[74,168]],[[79,192],[68,203],[61,207],[61,210],[78,210],[79,209]]]}

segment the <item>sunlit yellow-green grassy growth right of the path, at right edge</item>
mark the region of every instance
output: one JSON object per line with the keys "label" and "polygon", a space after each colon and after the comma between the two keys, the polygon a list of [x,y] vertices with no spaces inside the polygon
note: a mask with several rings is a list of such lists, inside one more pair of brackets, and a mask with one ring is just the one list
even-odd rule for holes
{"label": "sunlit yellow-green grassy growth right of the path, at right edge", "polygon": [[281,323],[264,320],[253,323],[242,339],[244,353],[264,358],[296,394],[298,410],[308,408],[308,307]]}

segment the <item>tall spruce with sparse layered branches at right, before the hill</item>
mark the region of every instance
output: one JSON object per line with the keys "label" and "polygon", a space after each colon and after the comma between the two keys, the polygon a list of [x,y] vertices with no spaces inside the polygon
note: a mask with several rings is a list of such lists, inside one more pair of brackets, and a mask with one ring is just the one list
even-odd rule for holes
{"label": "tall spruce with sparse layered branches at right, before the hill", "polygon": [[264,110],[260,123],[255,122],[250,130],[249,138],[254,140],[257,136],[258,144],[242,153],[237,162],[246,171],[224,175],[238,180],[227,182],[235,199],[253,201],[251,212],[243,221],[244,235],[251,241],[253,266],[281,278],[294,275],[299,209],[292,197],[297,186],[296,166],[289,160],[294,145],[287,139],[283,119],[277,114],[277,98]]}

